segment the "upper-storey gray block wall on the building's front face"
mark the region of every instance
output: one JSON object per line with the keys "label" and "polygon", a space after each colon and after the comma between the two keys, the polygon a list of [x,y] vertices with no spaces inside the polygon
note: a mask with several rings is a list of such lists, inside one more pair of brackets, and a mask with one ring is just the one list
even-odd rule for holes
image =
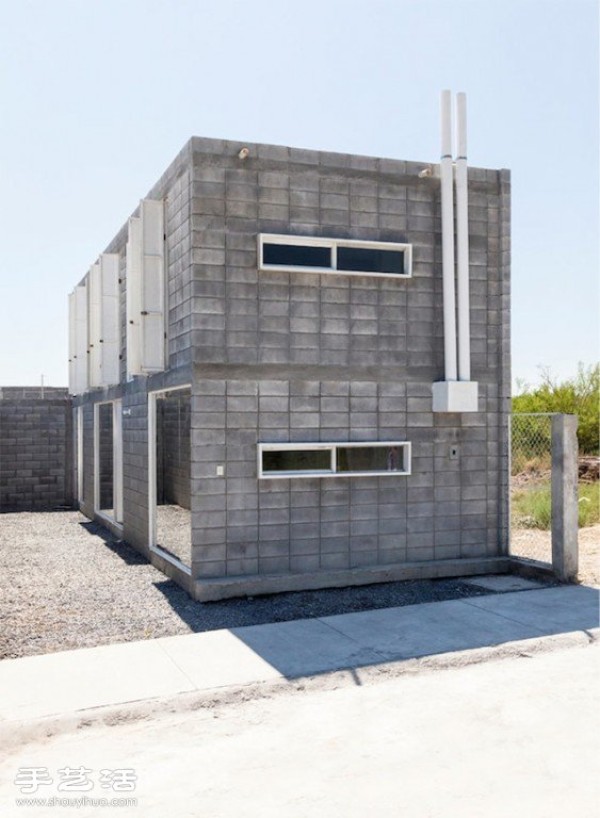
{"label": "upper-storey gray block wall on the building's front face", "polygon": [[[329,155],[331,164],[314,168],[291,159],[242,163],[239,145],[192,144],[195,362],[394,366],[443,376],[439,182],[419,180],[422,166],[398,163],[394,176],[383,160],[372,163],[385,175]],[[249,147],[251,157],[260,154]],[[472,354],[484,374],[498,365],[503,315],[499,177],[486,173],[473,169],[470,182]],[[258,274],[259,232],[409,241],[414,278]]]}

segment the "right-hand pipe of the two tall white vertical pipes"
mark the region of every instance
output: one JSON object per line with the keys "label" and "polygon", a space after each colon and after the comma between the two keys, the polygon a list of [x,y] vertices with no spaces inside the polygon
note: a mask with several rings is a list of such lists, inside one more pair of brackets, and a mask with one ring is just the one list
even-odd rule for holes
{"label": "right-hand pipe of the two tall white vertical pipes", "polygon": [[456,95],[456,280],[458,300],[458,379],[471,380],[469,319],[469,202],[467,192],[467,97]]}

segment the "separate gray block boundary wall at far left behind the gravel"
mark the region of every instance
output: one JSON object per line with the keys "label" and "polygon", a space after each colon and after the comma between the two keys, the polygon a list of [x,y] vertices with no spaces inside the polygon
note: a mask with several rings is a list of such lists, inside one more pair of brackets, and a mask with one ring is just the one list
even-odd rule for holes
{"label": "separate gray block boundary wall at far left behind the gravel", "polygon": [[0,388],[0,511],[71,505],[71,408],[63,388]]}

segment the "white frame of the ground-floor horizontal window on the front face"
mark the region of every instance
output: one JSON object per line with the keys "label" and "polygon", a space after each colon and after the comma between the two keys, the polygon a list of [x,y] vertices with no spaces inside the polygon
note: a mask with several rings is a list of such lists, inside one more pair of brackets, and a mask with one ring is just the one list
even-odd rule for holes
{"label": "white frame of the ground-floor horizontal window on the front face", "polygon": [[[389,448],[390,446],[398,446],[404,450],[403,460],[405,468],[397,471],[336,471],[337,450],[348,448]],[[270,472],[263,470],[263,452],[281,452],[281,451],[330,451],[330,470],[319,469],[312,471],[286,471],[286,472]],[[306,443],[259,443],[257,452],[257,470],[259,480],[288,480],[291,477],[402,477],[411,474],[411,444],[408,440],[360,440],[360,441],[342,441],[328,443],[315,443],[314,441]]]}

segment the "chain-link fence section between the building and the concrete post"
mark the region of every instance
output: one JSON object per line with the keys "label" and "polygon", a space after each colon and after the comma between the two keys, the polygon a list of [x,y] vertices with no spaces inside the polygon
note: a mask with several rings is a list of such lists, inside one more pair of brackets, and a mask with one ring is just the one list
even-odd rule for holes
{"label": "chain-link fence section between the building and the concrete post", "polygon": [[511,430],[511,534],[515,557],[552,562],[552,415],[514,414]]}

